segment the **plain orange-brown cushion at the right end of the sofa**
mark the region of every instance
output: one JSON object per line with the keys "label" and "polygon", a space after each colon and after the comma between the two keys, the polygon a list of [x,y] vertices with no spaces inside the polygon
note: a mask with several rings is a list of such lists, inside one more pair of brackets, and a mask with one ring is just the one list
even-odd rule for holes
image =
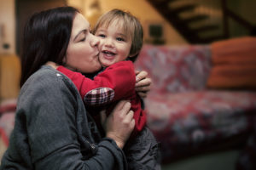
{"label": "plain orange-brown cushion at the right end of the sofa", "polygon": [[213,42],[207,88],[256,88],[256,37]]}

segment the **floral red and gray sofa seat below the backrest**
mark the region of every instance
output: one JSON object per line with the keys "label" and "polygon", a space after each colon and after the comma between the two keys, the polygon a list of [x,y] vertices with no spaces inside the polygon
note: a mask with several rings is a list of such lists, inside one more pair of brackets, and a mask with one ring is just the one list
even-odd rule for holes
{"label": "floral red and gray sofa seat below the backrest", "polygon": [[[251,131],[256,93],[200,91],[145,99],[148,127],[161,143],[164,161],[213,147]],[[237,139],[237,138],[236,138]],[[213,145],[212,145],[213,144]],[[230,145],[230,144],[229,144]]]}

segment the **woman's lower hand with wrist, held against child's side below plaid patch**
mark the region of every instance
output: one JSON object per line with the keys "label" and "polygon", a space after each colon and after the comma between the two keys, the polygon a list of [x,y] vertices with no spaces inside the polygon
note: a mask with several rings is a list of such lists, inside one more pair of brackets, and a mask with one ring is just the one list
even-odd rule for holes
{"label": "woman's lower hand with wrist, held against child's side below plaid patch", "polygon": [[115,106],[107,118],[105,113],[101,114],[106,136],[113,139],[121,149],[124,147],[127,139],[129,139],[135,126],[133,111],[130,110],[131,103],[122,100]]}

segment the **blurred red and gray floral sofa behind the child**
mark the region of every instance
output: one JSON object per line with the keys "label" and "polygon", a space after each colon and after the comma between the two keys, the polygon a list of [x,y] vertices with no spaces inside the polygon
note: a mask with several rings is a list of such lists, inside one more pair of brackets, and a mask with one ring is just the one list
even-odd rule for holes
{"label": "blurred red and gray floral sofa behind the child", "polygon": [[[216,58],[214,53],[227,50],[224,46],[233,46],[233,41],[209,45],[143,46],[136,68],[148,71],[153,80],[151,92],[144,103],[148,127],[161,144],[163,163],[238,147],[242,153],[237,158],[237,168],[244,164],[248,167],[250,161],[251,166],[255,166],[256,83],[232,80],[245,77],[241,72],[246,71],[238,71],[235,77],[233,74],[226,77],[231,78],[231,85],[235,87],[228,88],[227,80],[223,80],[223,88],[218,80],[214,81],[216,87],[211,82],[212,78],[215,80],[219,76],[214,72],[215,67],[218,69],[218,64],[212,59]],[[247,42],[247,37],[241,41]],[[253,41],[253,47],[246,51],[253,50],[256,54],[256,38]],[[234,48],[231,49],[231,53],[237,54]],[[249,62],[251,64],[252,61]],[[253,65],[254,73],[248,77],[249,80],[256,79],[256,62]],[[220,73],[223,77],[224,72]]]}

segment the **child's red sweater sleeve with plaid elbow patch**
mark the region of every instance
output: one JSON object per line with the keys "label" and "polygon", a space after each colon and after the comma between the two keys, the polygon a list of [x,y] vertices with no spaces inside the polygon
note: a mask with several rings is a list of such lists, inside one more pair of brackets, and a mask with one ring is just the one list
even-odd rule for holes
{"label": "child's red sweater sleeve with plaid elbow patch", "polygon": [[135,71],[131,61],[120,61],[98,74],[94,80],[79,72],[60,66],[57,68],[69,77],[84,99],[85,105],[107,105],[127,98],[135,90]]}

